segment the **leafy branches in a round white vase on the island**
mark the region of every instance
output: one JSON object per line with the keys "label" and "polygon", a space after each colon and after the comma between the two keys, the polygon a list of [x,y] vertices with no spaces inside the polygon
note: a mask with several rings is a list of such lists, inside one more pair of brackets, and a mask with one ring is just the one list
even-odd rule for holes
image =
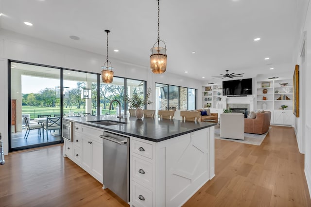
{"label": "leafy branches in a round white vase on the island", "polygon": [[141,109],[145,104],[152,104],[153,102],[149,100],[151,93],[151,88],[147,89],[147,94],[145,98],[139,93],[137,93],[136,90],[134,90],[133,95],[131,98],[126,97],[125,101],[128,103],[129,109],[136,109],[135,116],[138,119],[141,119],[144,115],[143,110]]}

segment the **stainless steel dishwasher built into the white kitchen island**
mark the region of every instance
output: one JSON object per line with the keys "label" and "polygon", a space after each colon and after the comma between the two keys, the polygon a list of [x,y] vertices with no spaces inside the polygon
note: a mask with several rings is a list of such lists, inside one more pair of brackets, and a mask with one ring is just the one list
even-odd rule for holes
{"label": "stainless steel dishwasher built into the white kitchen island", "polygon": [[130,201],[129,137],[105,131],[103,135],[103,184],[125,202]]}

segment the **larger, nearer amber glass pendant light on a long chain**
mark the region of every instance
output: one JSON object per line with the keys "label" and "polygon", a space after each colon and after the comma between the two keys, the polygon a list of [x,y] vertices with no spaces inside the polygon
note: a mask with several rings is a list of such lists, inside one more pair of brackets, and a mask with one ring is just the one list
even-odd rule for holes
{"label": "larger, nearer amber glass pendant light on a long chain", "polygon": [[[151,72],[160,74],[166,71],[166,45],[165,42],[160,40],[160,2],[157,0],[157,42],[154,44],[154,47],[151,48],[150,55],[150,68]],[[164,43],[164,48],[159,47],[160,42]],[[155,45],[157,44],[157,47]]]}

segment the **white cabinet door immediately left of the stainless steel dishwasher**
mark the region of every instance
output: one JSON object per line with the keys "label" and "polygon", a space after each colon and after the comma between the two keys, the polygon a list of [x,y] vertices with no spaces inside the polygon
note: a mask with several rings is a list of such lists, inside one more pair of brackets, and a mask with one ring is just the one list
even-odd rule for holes
{"label": "white cabinet door immediately left of the stainless steel dishwasher", "polygon": [[91,140],[92,175],[103,182],[103,143]]}

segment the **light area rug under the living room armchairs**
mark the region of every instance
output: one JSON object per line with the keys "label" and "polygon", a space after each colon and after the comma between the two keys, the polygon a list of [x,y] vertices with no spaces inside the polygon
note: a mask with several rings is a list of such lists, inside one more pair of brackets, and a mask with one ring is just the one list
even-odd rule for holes
{"label": "light area rug under the living room armchairs", "polygon": [[[272,127],[269,127],[269,130]],[[225,141],[232,141],[232,142],[237,142],[237,143],[244,143],[244,144],[254,144],[254,145],[260,145],[266,135],[268,134],[269,130],[264,133],[264,134],[249,134],[249,133],[244,133],[244,140],[235,140],[235,139],[227,139],[227,138],[221,138],[220,137],[220,127],[215,126],[215,139],[219,140],[225,140]]]}

